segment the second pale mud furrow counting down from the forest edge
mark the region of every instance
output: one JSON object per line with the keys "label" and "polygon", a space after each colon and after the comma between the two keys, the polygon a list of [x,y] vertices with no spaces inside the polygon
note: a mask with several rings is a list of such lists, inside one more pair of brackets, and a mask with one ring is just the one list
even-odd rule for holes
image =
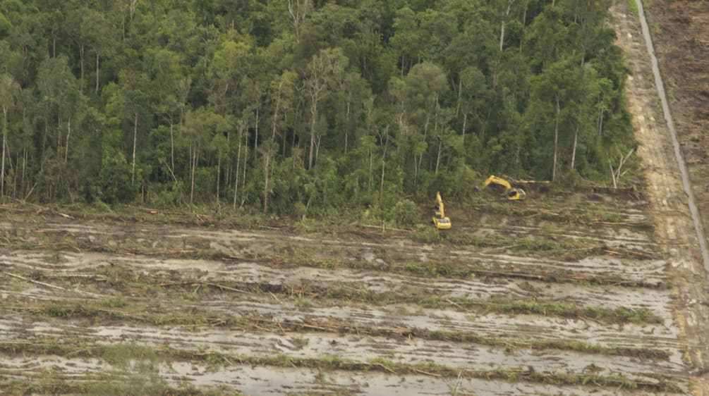
{"label": "second pale mud furrow counting down from the forest edge", "polygon": [[[47,260],[60,261],[58,264]],[[81,288],[99,281],[92,281],[91,275],[101,278],[101,268],[123,266],[138,273],[149,273],[153,278],[166,280],[233,282],[256,285],[267,290],[283,288],[314,287],[318,289],[339,288],[345,286],[352,290],[366,290],[373,293],[416,293],[435,295],[442,298],[473,298],[488,300],[493,297],[513,299],[534,299],[537,301],[575,302],[581,306],[608,307],[610,309],[627,308],[630,310],[646,309],[665,320],[671,320],[669,305],[670,290],[646,290],[644,288],[623,288],[598,285],[564,285],[541,281],[512,281],[499,278],[484,281],[455,278],[420,278],[396,273],[360,271],[328,268],[273,268],[257,263],[225,263],[214,260],[156,259],[150,256],[122,256],[118,254],[70,253],[60,256],[41,254],[36,251],[15,251],[0,254],[0,262],[8,271],[21,270],[33,273],[50,270],[57,281],[66,276],[84,276],[77,278]],[[72,278],[69,278],[72,279]],[[56,282],[53,279],[50,282]],[[93,286],[94,292],[104,289],[103,282]]]}

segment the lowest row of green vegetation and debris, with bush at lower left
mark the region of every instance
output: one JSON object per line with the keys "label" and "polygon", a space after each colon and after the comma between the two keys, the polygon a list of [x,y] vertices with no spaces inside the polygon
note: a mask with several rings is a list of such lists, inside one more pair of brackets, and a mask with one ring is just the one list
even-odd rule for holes
{"label": "lowest row of green vegetation and debris, with bush at lower left", "polygon": [[[15,353],[40,353],[41,344],[48,340],[38,340],[22,345]],[[52,342],[52,344],[55,344]],[[8,343],[0,343],[0,350],[8,351]],[[301,358],[286,354],[274,356],[230,355],[214,351],[182,351],[172,348],[150,348],[137,344],[67,345],[65,351],[73,356],[101,358],[111,364],[111,368],[99,373],[100,380],[74,383],[62,380],[48,371],[40,380],[31,383],[9,382],[6,385],[23,392],[50,392],[52,394],[82,393],[86,395],[217,395],[216,390],[196,390],[194,387],[174,389],[158,375],[157,364],[169,359],[202,361],[211,370],[235,364],[248,366],[274,366],[283,368],[317,368],[318,370],[379,371],[393,375],[430,375],[436,378],[481,378],[499,379],[510,382],[527,381],[552,385],[591,385],[613,387],[647,392],[681,392],[678,385],[666,382],[647,383],[626,378],[623,375],[596,375],[587,373],[540,373],[532,369],[495,368],[492,370],[467,370],[435,363],[399,363],[387,358],[373,358],[368,361],[354,361],[334,355],[319,358]],[[72,349],[77,349],[71,353]],[[1,383],[0,383],[1,385]]]}

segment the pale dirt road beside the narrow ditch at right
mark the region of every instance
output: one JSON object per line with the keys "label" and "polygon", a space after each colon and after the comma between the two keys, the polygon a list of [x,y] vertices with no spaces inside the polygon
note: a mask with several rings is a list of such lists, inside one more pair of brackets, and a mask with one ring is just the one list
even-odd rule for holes
{"label": "pale dirt road beside the narrow ditch at right", "polygon": [[[667,10],[658,3],[662,2],[654,2],[655,6],[652,10],[659,13],[656,14],[657,18],[666,18],[667,15],[664,14]],[[693,5],[686,4],[686,7],[691,6]],[[703,13],[692,14],[703,15]],[[706,16],[705,13],[704,15]],[[669,19],[671,18],[670,16]],[[668,118],[661,111],[657,96],[658,90],[655,86],[655,82],[659,80],[652,72],[650,55],[647,52],[645,40],[642,38],[637,18],[631,16],[628,10],[623,10],[618,13],[616,19],[619,23],[618,43],[627,52],[632,69],[632,77],[627,81],[627,96],[637,131],[637,140],[640,142],[638,152],[644,163],[648,196],[657,222],[658,240],[661,242],[666,256],[669,256],[671,262],[669,273],[678,293],[676,322],[682,329],[682,336],[687,339],[687,358],[688,361],[691,361],[693,373],[703,378],[696,383],[694,392],[698,395],[709,395],[709,383],[704,375],[709,364],[709,334],[706,332],[707,324],[709,324],[709,309],[706,305],[709,288],[705,271],[705,257],[700,251],[700,240],[698,239],[703,235],[698,236],[694,223],[699,221],[699,227],[702,227],[702,219],[692,217],[693,214],[688,207],[688,195],[685,186],[682,185],[680,169],[680,166],[685,166],[683,162],[686,156],[694,160],[697,154],[694,149],[692,150],[695,152],[692,150],[687,152],[686,145],[683,145],[683,151],[678,159],[670,136],[674,130],[668,128]],[[667,26],[667,19],[664,21]],[[681,26],[682,23],[679,25]],[[675,26],[675,24],[673,23],[671,26]],[[659,40],[657,40],[658,38]],[[673,47],[672,41],[668,43],[664,41],[666,39],[669,39],[667,35],[657,35],[655,38],[655,41],[658,42],[657,47],[661,49]],[[677,57],[680,56],[680,48],[679,46],[674,48],[674,55]],[[682,74],[676,67],[666,67],[673,63],[663,62],[665,67],[661,69],[661,72],[668,74],[666,75],[668,81],[676,81],[676,77]],[[662,79],[664,78],[662,77]],[[662,84],[663,87],[664,85]],[[675,103],[671,114],[676,114],[674,109],[682,108],[682,104]],[[691,106],[689,107],[682,109],[681,114],[691,112]],[[676,117],[670,115],[670,120],[673,123],[672,129],[675,129],[674,118]],[[683,116],[680,115],[679,119],[682,120]],[[676,129],[686,134],[682,122],[680,127]],[[696,172],[694,173],[696,174]],[[690,180],[690,182],[693,181]],[[704,201],[699,200],[698,202],[700,207],[703,207],[703,212],[706,212]]]}

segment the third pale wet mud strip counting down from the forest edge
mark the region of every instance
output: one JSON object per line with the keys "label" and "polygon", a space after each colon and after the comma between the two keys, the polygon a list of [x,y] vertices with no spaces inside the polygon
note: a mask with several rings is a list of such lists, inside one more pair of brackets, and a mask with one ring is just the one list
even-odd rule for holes
{"label": "third pale wet mud strip counting down from the forest edge", "polygon": [[[60,317],[94,317],[96,308],[82,305],[74,300],[67,307],[58,307],[52,303],[43,306],[19,304],[6,293],[6,309],[29,311],[35,315],[54,314]],[[225,301],[204,299],[199,303],[180,302],[180,308],[173,308],[160,299],[161,302],[151,303],[156,297],[144,299],[133,298],[131,305],[142,312],[151,312],[152,317],[130,313],[125,319],[138,319],[140,322],[171,322],[184,317],[187,313],[201,319],[213,319],[224,322],[231,319],[245,319],[247,323],[266,320],[282,323],[294,328],[308,329],[322,327],[337,332],[359,332],[362,334],[395,334],[397,336],[420,336],[425,339],[484,338],[481,342],[491,342],[495,339],[507,339],[511,344],[525,344],[535,341],[548,345],[559,345],[560,341],[574,340],[576,334],[585,334],[579,342],[597,346],[601,349],[635,349],[638,351],[662,351],[675,361],[681,360],[681,347],[676,341],[676,330],[664,324],[605,324],[584,318],[567,319],[541,315],[503,315],[495,312],[460,311],[455,307],[425,308],[418,305],[396,304],[384,307],[368,307],[357,305],[321,305],[308,302],[305,307],[297,300],[279,300],[274,302],[270,295],[250,295],[250,300]],[[41,300],[51,301],[52,295],[45,295]],[[56,298],[56,296],[54,296]],[[40,298],[38,298],[40,299]],[[65,297],[71,302],[72,299]],[[46,300],[45,300],[46,301]],[[112,316],[121,317],[123,310],[110,310],[99,307],[99,313],[108,312]],[[162,312],[162,317],[155,315]],[[200,316],[201,315],[201,316]],[[100,318],[99,318],[100,319]],[[106,320],[108,320],[106,319]],[[198,323],[199,324],[199,323]],[[448,336],[447,336],[448,334]],[[566,347],[575,346],[573,343]],[[620,353],[623,353],[621,351]],[[642,354],[642,353],[640,353]]]}

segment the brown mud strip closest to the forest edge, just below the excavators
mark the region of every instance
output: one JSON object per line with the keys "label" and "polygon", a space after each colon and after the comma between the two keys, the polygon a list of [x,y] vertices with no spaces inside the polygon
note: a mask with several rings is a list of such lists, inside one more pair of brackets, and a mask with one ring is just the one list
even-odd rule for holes
{"label": "brown mud strip closest to the forest edge, just below the excavators", "polygon": [[[216,251],[238,261],[252,259],[268,259],[281,256],[300,257],[301,261],[293,264],[308,265],[308,260],[335,259],[337,263],[320,263],[323,265],[347,266],[351,261],[376,261],[382,270],[396,271],[397,264],[436,261],[437,266],[443,264],[461,268],[465,276],[471,273],[480,276],[517,276],[519,278],[540,279],[552,282],[559,281],[589,281],[592,283],[617,283],[627,285],[647,285],[661,287],[667,276],[664,271],[666,261],[648,259],[656,256],[653,251],[608,251],[614,256],[585,256],[582,259],[553,259],[542,257],[543,251],[535,254],[517,256],[501,254],[507,247],[490,247],[479,249],[475,247],[449,247],[445,256],[440,253],[440,247],[432,244],[414,244],[403,239],[386,240],[384,242],[367,242],[362,240],[343,241],[327,237],[308,237],[306,235],[284,236],[276,232],[230,232],[199,230],[189,228],[170,228],[169,230],[113,229],[105,225],[84,225],[81,227],[67,226],[62,223],[48,224],[34,233],[43,237],[55,237],[65,240],[73,237],[75,246],[82,249],[99,251],[108,249],[141,251],[152,250],[161,256],[177,256],[180,251],[200,250]],[[14,232],[17,232],[16,226]],[[155,235],[160,234],[160,239]],[[88,235],[88,236],[86,236]],[[108,238],[108,240],[105,240]],[[99,239],[104,239],[100,240]],[[30,237],[30,240],[31,237]],[[129,243],[128,243],[129,242]],[[94,248],[92,248],[94,247]],[[160,251],[160,249],[163,249]],[[487,252],[486,252],[487,251]],[[497,252],[497,253],[496,253]],[[633,256],[635,255],[635,257]],[[638,259],[638,256],[640,259]],[[283,264],[288,264],[284,261]],[[501,272],[501,274],[496,274]]]}

